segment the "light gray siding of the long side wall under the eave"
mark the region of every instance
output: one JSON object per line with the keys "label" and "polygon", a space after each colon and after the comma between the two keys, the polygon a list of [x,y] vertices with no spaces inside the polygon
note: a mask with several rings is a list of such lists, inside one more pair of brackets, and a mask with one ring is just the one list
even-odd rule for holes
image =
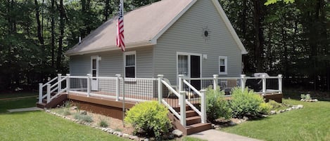
{"label": "light gray siding of the long side wall under the eave", "polygon": [[[129,48],[129,51],[136,51],[137,78],[153,77],[153,46]],[[122,51],[107,51],[102,53],[91,53],[86,55],[70,56],[70,74],[74,76],[86,76],[91,73],[91,56],[99,55],[99,76],[112,76],[122,74],[124,57]]]}

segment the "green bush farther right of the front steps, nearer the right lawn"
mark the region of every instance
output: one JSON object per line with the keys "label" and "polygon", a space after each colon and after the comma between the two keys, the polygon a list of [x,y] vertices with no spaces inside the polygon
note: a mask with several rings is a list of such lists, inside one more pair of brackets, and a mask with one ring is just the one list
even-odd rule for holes
{"label": "green bush farther right of the front steps, nearer the right lawn", "polygon": [[268,113],[271,109],[260,95],[254,93],[253,90],[248,90],[248,88],[245,88],[243,91],[241,88],[234,88],[230,106],[232,116],[236,118],[259,116],[260,114]]}

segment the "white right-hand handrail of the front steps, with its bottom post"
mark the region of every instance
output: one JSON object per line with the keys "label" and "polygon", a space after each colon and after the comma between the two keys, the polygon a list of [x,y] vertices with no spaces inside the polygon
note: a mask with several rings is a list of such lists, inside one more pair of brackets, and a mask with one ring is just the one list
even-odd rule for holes
{"label": "white right-hand handrail of the front steps, with its bottom post", "polygon": [[197,90],[195,87],[193,87],[188,81],[186,81],[186,79],[183,79],[182,82],[185,83],[186,86],[191,88],[191,90],[193,90],[197,95],[200,96],[200,98],[201,98],[201,111],[199,111],[195,106],[193,106],[191,104],[191,102],[189,102],[189,100],[186,100],[186,104],[189,105],[189,107],[191,107],[191,109],[193,109],[193,111],[195,111],[199,116],[201,116],[201,123],[206,123],[205,90],[201,90],[201,92],[199,92],[199,90]]}

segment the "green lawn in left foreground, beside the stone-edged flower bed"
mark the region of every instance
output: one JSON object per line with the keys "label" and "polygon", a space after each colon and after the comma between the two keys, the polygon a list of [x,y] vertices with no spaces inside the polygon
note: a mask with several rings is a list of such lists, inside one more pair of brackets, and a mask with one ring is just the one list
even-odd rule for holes
{"label": "green lawn in left foreground, beside the stone-edged flower bed", "polygon": [[1,140],[125,140],[45,112],[0,114]]}

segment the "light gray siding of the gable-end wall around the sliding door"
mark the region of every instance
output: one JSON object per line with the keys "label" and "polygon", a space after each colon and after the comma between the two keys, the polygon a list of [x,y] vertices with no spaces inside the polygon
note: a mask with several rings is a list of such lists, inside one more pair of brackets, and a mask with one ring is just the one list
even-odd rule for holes
{"label": "light gray siding of the gable-end wall around the sliding door", "polygon": [[[203,28],[209,39],[203,38]],[[196,1],[177,22],[160,36],[155,49],[155,75],[165,74],[171,83],[177,78],[177,52],[208,55],[202,60],[202,76],[219,72],[219,56],[227,56],[227,75],[241,74],[241,50],[210,0]]]}

